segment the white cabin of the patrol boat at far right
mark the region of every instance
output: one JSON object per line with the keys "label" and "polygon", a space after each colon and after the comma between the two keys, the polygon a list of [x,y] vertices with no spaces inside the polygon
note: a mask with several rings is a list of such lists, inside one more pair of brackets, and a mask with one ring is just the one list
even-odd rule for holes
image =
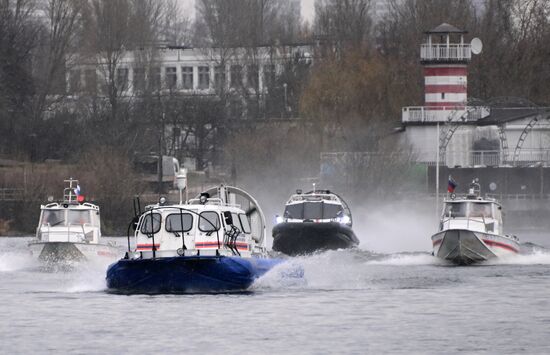
{"label": "white cabin of the patrol boat at far right", "polygon": [[502,234],[502,208],[489,199],[446,200],[440,231],[468,229],[483,233]]}

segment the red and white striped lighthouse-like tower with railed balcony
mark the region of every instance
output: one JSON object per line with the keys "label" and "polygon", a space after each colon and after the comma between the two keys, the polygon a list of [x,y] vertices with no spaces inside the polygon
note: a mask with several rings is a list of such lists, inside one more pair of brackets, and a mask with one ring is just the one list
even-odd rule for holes
{"label": "red and white striped lighthouse-like tower with railed balcony", "polygon": [[464,43],[466,31],[443,23],[427,31],[427,42],[420,49],[424,66],[426,108],[464,109],[468,100],[470,44]]}

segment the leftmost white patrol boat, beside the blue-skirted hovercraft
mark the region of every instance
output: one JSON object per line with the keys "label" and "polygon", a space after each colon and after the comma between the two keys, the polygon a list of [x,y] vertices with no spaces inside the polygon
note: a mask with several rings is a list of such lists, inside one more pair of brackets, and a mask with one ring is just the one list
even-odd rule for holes
{"label": "leftmost white patrol boat, beside the blue-skirted hovercraft", "polygon": [[33,256],[46,262],[116,258],[116,247],[101,238],[99,207],[84,202],[78,180],[65,180],[62,202],[40,206],[36,238],[29,242]]}

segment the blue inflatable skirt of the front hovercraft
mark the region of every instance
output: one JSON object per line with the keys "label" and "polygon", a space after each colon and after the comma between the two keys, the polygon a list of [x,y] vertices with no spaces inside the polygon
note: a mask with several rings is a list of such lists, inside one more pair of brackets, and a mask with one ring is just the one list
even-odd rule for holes
{"label": "blue inflatable skirt of the front hovercraft", "polygon": [[246,291],[280,259],[175,256],[121,259],[107,270],[109,291],[124,294]]}

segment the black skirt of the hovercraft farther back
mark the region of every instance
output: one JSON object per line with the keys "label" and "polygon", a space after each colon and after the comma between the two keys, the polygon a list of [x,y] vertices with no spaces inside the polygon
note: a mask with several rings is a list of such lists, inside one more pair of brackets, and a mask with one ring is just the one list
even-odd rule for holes
{"label": "black skirt of the hovercraft farther back", "polygon": [[273,227],[273,250],[287,255],[352,248],[359,244],[353,230],[341,223],[279,223]]}

